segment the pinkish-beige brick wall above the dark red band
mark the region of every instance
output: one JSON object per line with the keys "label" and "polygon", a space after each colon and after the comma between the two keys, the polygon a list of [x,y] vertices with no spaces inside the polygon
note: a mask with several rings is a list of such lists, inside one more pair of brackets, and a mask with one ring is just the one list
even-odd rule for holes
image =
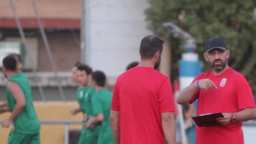
{"label": "pinkish-beige brick wall above the dark red band", "polygon": [[[31,0],[13,0],[17,15],[20,18],[35,18],[35,12]],[[80,19],[81,1],[70,0],[35,0],[38,13],[42,18],[71,18]],[[1,18],[14,18],[13,11],[8,0],[1,0]]]}

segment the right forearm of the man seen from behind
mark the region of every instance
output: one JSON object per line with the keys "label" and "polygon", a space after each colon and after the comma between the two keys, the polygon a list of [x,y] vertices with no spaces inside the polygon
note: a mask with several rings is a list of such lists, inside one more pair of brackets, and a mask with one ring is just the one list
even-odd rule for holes
{"label": "right forearm of the man seen from behind", "polygon": [[174,118],[162,120],[162,127],[168,144],[176,144],[176,128]]}

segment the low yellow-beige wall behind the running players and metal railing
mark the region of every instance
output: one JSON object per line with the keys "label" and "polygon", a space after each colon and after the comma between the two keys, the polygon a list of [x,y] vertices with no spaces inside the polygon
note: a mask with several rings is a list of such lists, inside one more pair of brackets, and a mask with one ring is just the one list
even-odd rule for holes
{"label": "low yellow-beige wall behind the running players and metal railing", "polygon": [[[81,120],[82,113],[71,115],[70,109],[77,108],[78,103],[72,102],[34,102],[39,120]],[[0,120],[8,118],[10,113],[0,115]],[[70,125],[70,130],[81,129],[81,124]],[[10,128],[0,127],[0,143],[7,143]],[[41,125],[40,139],[42,144],[63,144],[64,125]]]}

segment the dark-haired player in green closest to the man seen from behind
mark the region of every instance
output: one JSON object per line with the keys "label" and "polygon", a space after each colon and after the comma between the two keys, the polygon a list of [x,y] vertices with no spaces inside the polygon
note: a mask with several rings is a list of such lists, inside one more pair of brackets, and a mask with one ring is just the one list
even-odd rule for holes
{"label": "dark-haired player in green closest to the man seen from behind", "polygon": [[97,144],[114,144],[109,124],[112,93],[103,88],[106,81],[106,76],[103,72],[93,72],[92,79],[96,93],[91,99],[93,105],[93,117],[89,116],[89,120],[86,122],[86,128],[100,124],[101,128],[99,130]]}

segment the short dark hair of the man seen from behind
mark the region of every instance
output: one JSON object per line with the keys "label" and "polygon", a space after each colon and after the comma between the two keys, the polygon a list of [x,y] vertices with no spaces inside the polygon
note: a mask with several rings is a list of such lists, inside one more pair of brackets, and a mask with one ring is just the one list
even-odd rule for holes
{"label": "short dark hair of the man seen from behind", "polygon": [[151,59],[157,51],[163,51],[163,39],[156,35],[147,35],[141,40],[141,59]]}

